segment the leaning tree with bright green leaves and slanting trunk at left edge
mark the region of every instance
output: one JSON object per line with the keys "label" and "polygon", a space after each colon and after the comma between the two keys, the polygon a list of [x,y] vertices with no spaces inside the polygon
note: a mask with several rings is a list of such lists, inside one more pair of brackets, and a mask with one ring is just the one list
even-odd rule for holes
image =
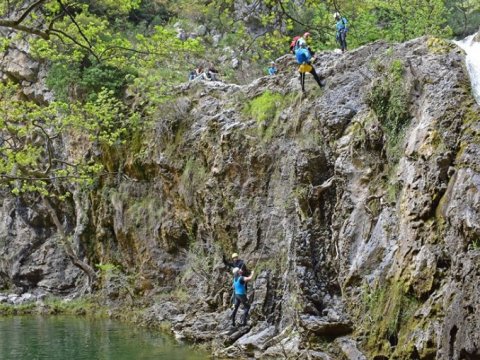
{"label": "leaning tree with bright green leaves and slanting trunk at left edge", "polygon": [[[86,104],[48,106],[23,101],[18,95],[18,86],[0,83],[0,186],[30,203],[43,203],[65,253],[92,286],[96,273],[79,250],[88,222],[85,190],[107,175],[95,151],[121,142],[138,118],[108,92]],[[83,145],[64,146],[72,141]],[[67,201],[75,207],[72,228],[64,224],[55,206]]]}

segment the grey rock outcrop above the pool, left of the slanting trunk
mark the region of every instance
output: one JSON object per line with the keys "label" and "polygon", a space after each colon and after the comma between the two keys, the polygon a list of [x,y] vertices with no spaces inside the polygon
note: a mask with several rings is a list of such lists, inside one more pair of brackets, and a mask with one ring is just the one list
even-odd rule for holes
{"label": "grey rock outcrop above the pool, left of the slanting trunk", "polygon": [[77,289],[80,271],[62,251],[45,213],[33,204],[4,198],[0,207],[0,287],[59,295]]}

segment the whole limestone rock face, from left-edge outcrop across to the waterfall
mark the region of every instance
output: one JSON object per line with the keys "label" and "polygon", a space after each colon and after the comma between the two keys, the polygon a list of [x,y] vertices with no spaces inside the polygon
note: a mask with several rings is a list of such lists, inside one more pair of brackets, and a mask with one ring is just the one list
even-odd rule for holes
{"label": "whole limestone rock face, from left-edge outcrop across to the waterfall", "polygon": [[[125,276],[110,301],[143,299],[148,323],[219,357],[480,356],[480,109],[463,52],[428,38],[324,52],[327,85],[307,74],[306,94],[293,57],[277,63],[246,86],[180,86],[142,156],[90,194],[85,256]],[[5,199],[2,281],[68,289],[48,219]],[[233,251],[255,271],[238,327]]]}

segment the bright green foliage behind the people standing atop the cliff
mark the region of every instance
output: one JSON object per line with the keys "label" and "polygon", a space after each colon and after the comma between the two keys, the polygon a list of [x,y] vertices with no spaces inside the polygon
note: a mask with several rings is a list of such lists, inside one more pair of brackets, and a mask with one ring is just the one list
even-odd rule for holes
{"label": "bright green foliage behind the people standing atop the cliff", "polygon": [[[339,11],[348,21],[347,42],[350,48],[380,39],[405,41],[423,35],[443,37],[451,34],[447,25],[450,13],[443,0],[307,1],[302,7],[290,6],[290,1],[281,3],[286,10],[285,15],[291,17],[290,21],[286,21],[289,35],[310,31],[314,35],[315,49],[338,46],[332,16],[335,11]],[[299,20],[298,23],[292,18]]]}

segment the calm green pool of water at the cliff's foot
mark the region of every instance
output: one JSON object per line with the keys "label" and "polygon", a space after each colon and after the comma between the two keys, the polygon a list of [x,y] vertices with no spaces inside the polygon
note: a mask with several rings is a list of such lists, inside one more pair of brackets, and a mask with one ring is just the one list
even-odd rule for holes
{"label": "calm green pool of water at the cliff's foot", "polygon": [[0,317],[2,360],[199,360],[206,354],[112,320]]}

